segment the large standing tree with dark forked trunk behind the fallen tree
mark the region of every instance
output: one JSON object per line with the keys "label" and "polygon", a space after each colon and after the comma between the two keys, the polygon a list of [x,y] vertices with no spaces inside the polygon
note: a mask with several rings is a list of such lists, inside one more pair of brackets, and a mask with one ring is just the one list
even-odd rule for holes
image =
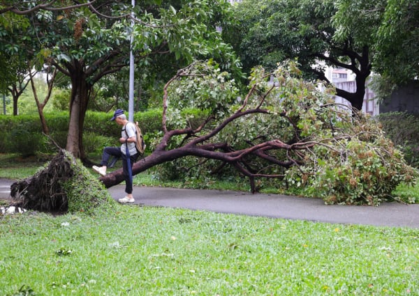
{"label": "large standing tree with dark forked trunk behind the fallen tree", "polygon": [[[354,93],[337,88],[336,94],[362,109],[366,81],[372,70],[374,29],[379,14],[348,14],[356,29],[332,22],[343,7],[339,0],[244,0],[235,6],[237,24],[223,29],[250,71],[255,65],[274,69],[284,59],[297,58],[308,77],[328,81],[325,65],[355,74]],[[348,1],[358,6],[358,1]],[[372,1],[373,2],[373,1]],[[376,1],[374,1],[376,2]],[[381,9],[379,3],[359,10]],[[380,10],[381,11],[381,10]]]}

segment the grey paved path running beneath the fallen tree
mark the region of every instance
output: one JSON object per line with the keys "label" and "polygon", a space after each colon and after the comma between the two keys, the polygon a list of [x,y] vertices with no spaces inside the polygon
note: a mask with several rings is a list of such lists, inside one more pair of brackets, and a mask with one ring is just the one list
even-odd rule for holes
{"label": "grey paved path running beneath the fallen tree", "polygon": [[[0,197],[8,196],[11,182],[0,179]],[[124,197],[124,185],[117,185],[108,190],[115,199]],[[419,204],[383,203],[378,207],[325,205],[319,198],[164,187],[135,187],[134,196],[135,204],[150,206],[327,223],[419,229]]]}

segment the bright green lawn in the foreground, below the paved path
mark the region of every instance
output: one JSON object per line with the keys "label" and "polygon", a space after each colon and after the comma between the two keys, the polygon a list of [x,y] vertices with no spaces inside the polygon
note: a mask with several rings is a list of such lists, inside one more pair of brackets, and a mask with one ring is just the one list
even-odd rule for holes
{"label": "bright green lawn in the foreground, below the paved path", "polygon": [[419,295],[418,278],[417,229],[129,205],[0,218],[1,295]]}

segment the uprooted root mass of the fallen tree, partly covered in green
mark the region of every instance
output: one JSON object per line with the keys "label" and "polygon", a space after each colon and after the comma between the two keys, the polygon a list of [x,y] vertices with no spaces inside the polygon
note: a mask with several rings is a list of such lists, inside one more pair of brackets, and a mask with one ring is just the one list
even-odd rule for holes
{"label": "uprooted root mass of the fallen tree, partly covered in green", "polygon": [[108,192],[66,150],[59,153],[34,176],[10,187],[13,205],[43,212],[91,212]]}

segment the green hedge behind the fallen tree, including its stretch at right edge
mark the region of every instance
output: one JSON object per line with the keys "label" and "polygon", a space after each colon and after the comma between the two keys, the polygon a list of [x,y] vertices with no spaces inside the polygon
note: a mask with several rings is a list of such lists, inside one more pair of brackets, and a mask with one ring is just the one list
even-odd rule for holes
{"label": "green hedge behind the fallen tree, including its stretch at right edge", "polygon": [[[196,127],[202,122],[202,111],[188,109],[184,114],[193,114],[189,123]],[[117,145],[120,127],[110,121],[111,113],[88,111],[84,120],[84,149],[87,153],[100,154],[104,146]],[[59,146],[65,147],[68,133],[68,112],[45,114],[50,137]],[[405,112],[380,114],[378,120],[387,136],[404,152],[406,161],[419,166],[419,116]],[[140,124],[145,140],[161,131],[161,109],[150,109],[134,114]],[[22,156],[36,153],[54,153],[55,148],[42,133],[38,114],[0,115],[0,153],[19,153]]]}

